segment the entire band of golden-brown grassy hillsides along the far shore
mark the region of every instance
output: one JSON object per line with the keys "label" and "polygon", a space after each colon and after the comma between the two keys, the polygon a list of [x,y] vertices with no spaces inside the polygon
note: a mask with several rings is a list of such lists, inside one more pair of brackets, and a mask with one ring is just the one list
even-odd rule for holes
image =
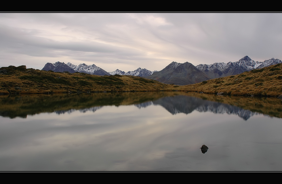
{"label": "entire band of golden-brown grassy hillsides along the far shore", "polygon": [[137,76],[71,74],[26,69],[25,66],[0,68],[0,94],[104,91],[195,91],[277,97],[282,94],[282,64],[185,86],[163,84]]}

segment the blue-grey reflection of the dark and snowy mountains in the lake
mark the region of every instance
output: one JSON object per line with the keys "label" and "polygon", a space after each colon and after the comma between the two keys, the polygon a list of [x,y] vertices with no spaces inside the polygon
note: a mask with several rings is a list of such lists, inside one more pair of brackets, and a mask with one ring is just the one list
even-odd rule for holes
{"label": "blue-grey reflection of the dark and snowy mountains in the lake", "polygon": [[199,112],[213,112],[215,114],[236,114],[244,120],[248,120],[251,116],[258,114],[257,112],[251,112],[250,110],[244,110],[236,106],[182,95],[174,97],[164,97],[155,101],[137,104],[135,106],[141,108],[147,107],[149,105],[161,105],[171,114],[189,114],[196,110]]}

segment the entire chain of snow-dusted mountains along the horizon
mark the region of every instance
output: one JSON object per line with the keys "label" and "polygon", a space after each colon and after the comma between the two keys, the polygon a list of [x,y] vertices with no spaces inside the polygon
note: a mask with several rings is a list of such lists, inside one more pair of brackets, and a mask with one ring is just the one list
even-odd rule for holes
{"label": "entire chain of snow-dusted mountains along the horizon", "polygon": [[213,78],[220,78],[230,75],[241,74],[246,71],[253,69],[260,69],[267,66],[282,63],[279,59],[271,58],[270,60],[265,60],[264,62],[258,62],[251,60],[248,56],[243,57],[237,62],[228,62],[227,64],[214,63],[214,64],[199,64],[194,66],[189,62],[177,63],[172,62],[166,66],[161,71],[151,72],[146,68],[138,68],[134,71],[124,72],[119,69],[113,72],[106,72],[102,68],[92,64],[90,66],[86,64],[79,64],[78,66],[68,62],[67,64],[56,62],[55,64],[47,63],[42,70],[52,70],[54,72],[84,72],[93,75],[132,75],[140,76],[148,79],[154,79],[165,84],[175,84],[175,85],[189,85],[200,83]]}

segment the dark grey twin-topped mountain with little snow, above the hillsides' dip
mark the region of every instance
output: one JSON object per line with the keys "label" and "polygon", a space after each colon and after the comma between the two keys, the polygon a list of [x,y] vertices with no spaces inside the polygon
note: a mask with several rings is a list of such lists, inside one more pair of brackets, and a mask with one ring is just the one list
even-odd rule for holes
{"label": "dark grey twin-topped mountain with little snow, above the hillsides' dip", "polygon": [[191,63],[172,62],[163,70],[146,77],[165,84],[188,85],[211,79]]}

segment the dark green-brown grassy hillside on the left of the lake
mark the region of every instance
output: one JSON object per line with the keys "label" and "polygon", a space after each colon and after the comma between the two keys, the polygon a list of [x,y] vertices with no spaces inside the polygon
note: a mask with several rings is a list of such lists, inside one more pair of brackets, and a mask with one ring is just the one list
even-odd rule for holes
{"label": "dark green-brown grassy hillside on the left of the lake", "polygon": [[0,93],[77,93],[103,91],[162,91],[173,87],[137,76],[98,76],[41,71],[25,66],[0,68]]}

